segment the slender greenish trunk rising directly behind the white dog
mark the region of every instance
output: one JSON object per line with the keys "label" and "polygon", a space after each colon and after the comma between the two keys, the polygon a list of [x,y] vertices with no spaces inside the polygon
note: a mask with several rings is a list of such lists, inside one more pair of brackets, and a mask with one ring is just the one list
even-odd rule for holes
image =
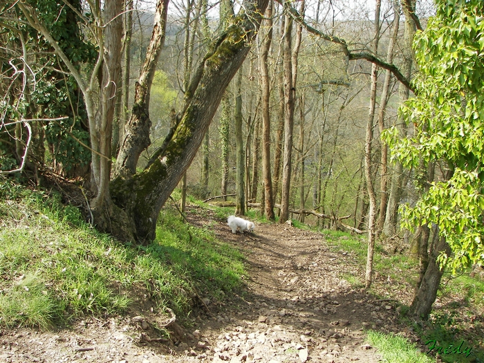
{"label": "slender greenish trunk rising directly behind the white dog", "polygon": [[244,163],[245,155],[243,152],[243,134],[242,134],[242,94],[241,94],[241,84],[242,84],[242,66],[239,69],[239,74],[236,80],[236,97],[235,97],[235,144],[236,144],[236,207],[235,214],[238,216],[245,215],[245,192],[244,192]]}

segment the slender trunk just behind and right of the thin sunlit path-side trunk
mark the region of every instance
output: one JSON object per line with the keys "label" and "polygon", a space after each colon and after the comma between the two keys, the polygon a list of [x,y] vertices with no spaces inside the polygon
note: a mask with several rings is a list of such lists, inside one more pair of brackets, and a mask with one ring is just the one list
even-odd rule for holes
{"label": "slender trunk just behind and right of the thin sunlit path-side trunk", "polygon": [[[397,41],[398,36],[398,25],[400,23],[400,9],[398,8],[398,1],[393,1],[393,30],[390,39],[390,43],[387,51],[387,63],[393,64],[393,47]],[[387,103],[389,100],[389,89],[390,89],[390,79],[391,72],[387,70],[385,73],[385,80],[383,84],[382,97],[380,101],[380,110],[378,111],[378,128],[380,130],[380,135],[385,129],[384,118],[387,111]],[[383,224],[385,221],[385,214],[387,212],[387,185],[388,185],[388,147],[387,143],[380,140],[380,145],[382,149],[381,159],[380,159],[380,214],[378,215],[378,222],[376,225],[376,233],[380,234],[383,230]]]}

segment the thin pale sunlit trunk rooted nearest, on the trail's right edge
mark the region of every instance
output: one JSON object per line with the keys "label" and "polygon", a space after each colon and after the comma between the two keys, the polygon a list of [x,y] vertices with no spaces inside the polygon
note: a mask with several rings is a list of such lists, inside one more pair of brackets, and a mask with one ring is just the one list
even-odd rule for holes
{"label": "thin pale sunlit trunk rooted nearest, on the trail's right edge", "polygon": [[[378,40],[380,38],[380,6],[381,0],[376,0],[375,6],[375,39],[373,41],[373,53],[378,54]],[[371,166],[371,142],[373,140],[373,120],[375,118],[376,84],[378,67],[371,66],[371,91],[370,91],[370,111],[368,122],[366,122],[366,138],[364,147],[364,174],[366,177],[366,189],[369,196],[368,214],[368,253],[366,254],[365,288],[370,288],[373,274],[373,254],[375,250],[375,218],[376,218],[376,194],[373,189],[373,173]]]}

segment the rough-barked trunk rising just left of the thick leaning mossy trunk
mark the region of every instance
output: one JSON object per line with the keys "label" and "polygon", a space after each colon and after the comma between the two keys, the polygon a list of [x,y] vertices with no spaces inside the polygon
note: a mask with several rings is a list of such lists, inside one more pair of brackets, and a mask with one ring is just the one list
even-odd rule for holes
{"label": "rough-barked trunk rising just left of the thick leaning mossy trunk", "polygon": [[140,154],[151,144],[149,129],[149,96],[151,84],[155,76],[156,65],[165,42],[165,28],[167,25],[167,10],[169,0],[158,0],[151,33],[151,41],[147,49],[145,63],[142,66],[140,79],[135,84],[135,96],[131,118],[125,129],[124,140],[116,160],[115,173],[128,176],[136,173],[136,166]]}

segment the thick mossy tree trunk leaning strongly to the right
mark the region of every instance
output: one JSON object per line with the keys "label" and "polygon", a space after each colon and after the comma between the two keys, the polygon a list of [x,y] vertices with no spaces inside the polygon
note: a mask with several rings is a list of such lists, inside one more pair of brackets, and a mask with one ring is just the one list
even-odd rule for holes
{"label": "thick mossy tree trunk leaning strongly to the right", "polygon": [[242,65],[268,0],[245,1],[244,12],[213,42],[185,93],[179,122],[153,153],[144,171],[118,175],[111,182],[113,201],[133,221],[133,237],[140,243],[155,238],[158,214],[183,173],[192,163],[223,93]]}

